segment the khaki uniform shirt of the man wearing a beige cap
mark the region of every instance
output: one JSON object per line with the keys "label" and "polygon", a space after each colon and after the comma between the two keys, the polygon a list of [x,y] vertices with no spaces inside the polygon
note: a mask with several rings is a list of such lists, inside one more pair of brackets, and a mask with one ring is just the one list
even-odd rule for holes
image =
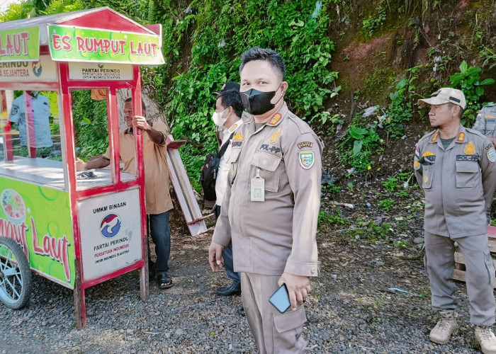
{"label": "khaki uniform shirt of the man wearing a beige cap", "polygon": [[417,143],[414,169],[425,195],[424,230],[451,238],[485,234],[496,189],[496,152],[480,132],[460,125],[446,148],[439,132]]}

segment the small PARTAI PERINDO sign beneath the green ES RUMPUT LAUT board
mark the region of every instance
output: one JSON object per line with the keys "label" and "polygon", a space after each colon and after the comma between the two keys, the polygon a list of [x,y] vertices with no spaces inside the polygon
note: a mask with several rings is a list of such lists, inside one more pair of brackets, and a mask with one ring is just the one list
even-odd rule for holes
{"label": "small PARTAI PERINDO sign beneath the green ES RUMPUT LAUT board", "polygon": [[133,67],[128,64],[69,63],[71,80],[133,80]]}

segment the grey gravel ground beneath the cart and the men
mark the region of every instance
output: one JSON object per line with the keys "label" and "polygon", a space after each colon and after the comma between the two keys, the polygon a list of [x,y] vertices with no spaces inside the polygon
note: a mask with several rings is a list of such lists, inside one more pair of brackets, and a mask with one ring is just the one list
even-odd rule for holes
{"label": "grey gravel ground beneath the cart and the men", "polygon": [[[137,272],[86,290],[86,328],[75,329],[70,290],[33,277],[24,309],[0,305],[0,353],[254,353],[240,297],[218,297],[225,273],[207,263],[211,234],[173,232],[174,287],[150,284],[140,301]],[[478,353],[463,283],[461,331],[444,346],[429,342],[434,325],[422,253],[319,234],[321,272],[307,301],[307,353]],[[408,290],[384,292],[388,287]]]}

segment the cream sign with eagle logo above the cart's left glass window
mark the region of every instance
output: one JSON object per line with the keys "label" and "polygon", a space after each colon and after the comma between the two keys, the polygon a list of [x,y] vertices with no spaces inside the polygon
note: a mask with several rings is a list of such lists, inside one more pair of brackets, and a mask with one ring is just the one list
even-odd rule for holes
{"label": "cream sign with eagle logo above the cart's left glass window", "polygon": [[0,82],[56,82],[57,65],[50,55],[39,62],[0,62]]}

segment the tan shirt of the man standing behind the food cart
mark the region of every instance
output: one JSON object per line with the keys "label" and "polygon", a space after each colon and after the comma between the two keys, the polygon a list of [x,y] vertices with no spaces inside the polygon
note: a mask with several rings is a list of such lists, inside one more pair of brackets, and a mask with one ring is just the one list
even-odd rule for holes
{"label": "tan shirt of the man standing behind the food cart", "polygon": [[[143,131],[143,163],[145,164],[145,202],[147,214],[160,214],[172,209],[169,192],[169,169],[167,167],[167,127],[163,122],[154,122],[153,129],[164,134],[163,144],[155,144]],[[124,162],[123,172],[136,175],[135,138],[130,129],[119,133],[119,155]],[[110,159],[110,150],[103,154]]]}

